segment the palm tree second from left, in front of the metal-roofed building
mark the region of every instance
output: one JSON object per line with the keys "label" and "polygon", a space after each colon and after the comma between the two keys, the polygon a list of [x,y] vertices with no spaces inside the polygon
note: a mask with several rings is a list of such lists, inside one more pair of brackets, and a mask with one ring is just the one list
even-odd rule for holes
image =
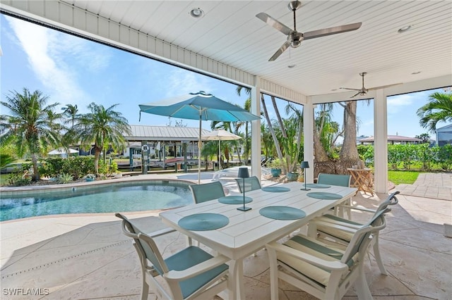
{"label": "palm tree second from left, in front of the metal-roofed building", "polygon": [[94,102],[88,105],[90,113],[78,115],[76,124],[71,130],[73,138],[80,141],[82,146],[91,146],[94,142],[94,169],[99,174],[99,158],[102,151],[105,154],[107,147],[115,151],[124,148],[126,139],[124,135],[131,135],[131,127],[121,113],[114,111],[119,104],[109,108],[97,105]]}

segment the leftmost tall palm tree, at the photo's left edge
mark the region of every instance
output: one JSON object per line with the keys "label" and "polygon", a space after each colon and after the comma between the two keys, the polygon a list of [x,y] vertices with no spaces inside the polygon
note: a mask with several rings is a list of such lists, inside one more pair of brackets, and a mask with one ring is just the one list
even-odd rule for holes
{"label": "leftmost tall palm tree, at the photo's left edge", "polygon": [[[55,106],[59,103],[46,105],[48,96],[36,90],[30,92],[23,88],[23,93],[10,92],[6,96],[6,102],[1,101],[1,105],[11,111],[11,115],[3,115],[1,123],[0,144],[6,140],[13,139],[19,156],[29,153],[32,159],[33,176],[32,180],[40,180],[37,169],[37,158],[43,151],[47,151],[49,146],[56,146],[59,142],[59,132],[55,132],[54,120],[60,116],[53,113]],[[52,119],[49,119],[49,115]]]}

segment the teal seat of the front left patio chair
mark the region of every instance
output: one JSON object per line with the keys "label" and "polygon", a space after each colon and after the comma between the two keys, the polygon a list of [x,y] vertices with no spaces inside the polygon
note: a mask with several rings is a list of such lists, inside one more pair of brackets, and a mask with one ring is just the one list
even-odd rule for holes
{"label": "teal seat of the front left patio chair", "polygon": [[[195,246],[189,246],[179,253],[166,258],[165,263],[167,264],[168,270],[186,270],[187,268],[197,265],[198,263],[202,263],[203,261],[207,261],[210,258],[213,258],[213,256],[208,254],[206,251],[203,251],[203,249]],[[223,263],[212,270],[208,270],[198,276],[179,282],[184,299],[213,280],[213,278],[223,273],[227,270],[227,268],[227,265]]]}

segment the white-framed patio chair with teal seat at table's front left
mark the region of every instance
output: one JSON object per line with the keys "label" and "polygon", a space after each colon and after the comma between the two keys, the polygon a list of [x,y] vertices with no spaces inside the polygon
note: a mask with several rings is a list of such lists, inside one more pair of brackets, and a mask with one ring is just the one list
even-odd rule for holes
{"label": "white-framed patio chair with teal seat at table's front left", "polygon": [[[124,235],[133,238],[133,246],[140,258],[143,274],[141,299],[148,299],[149,286],[157,298],[174,300],[212,299],[227,288],[228,266],[225,263],[229,258],[214,257],[196,246],[189,246],[164,259],[154,238],[175,230],[145,235],[124,215],[115,215],[122,220]],[[167,285],[162,285],[161,281]]]}

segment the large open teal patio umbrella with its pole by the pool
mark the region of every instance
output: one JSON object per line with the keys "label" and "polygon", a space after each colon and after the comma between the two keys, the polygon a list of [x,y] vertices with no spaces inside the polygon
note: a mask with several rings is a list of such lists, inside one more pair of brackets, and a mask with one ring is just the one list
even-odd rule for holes
{"label": "large open teal patio umbrella with its pole by the pool", "polygon": [[154,115],[199,120],[198,184],[201,183],[201,122],[203,120],[236,122],[259,119],[257,115],[203,91],[149,104],[140,104],[139,107],[140,116],[143,111]]}

